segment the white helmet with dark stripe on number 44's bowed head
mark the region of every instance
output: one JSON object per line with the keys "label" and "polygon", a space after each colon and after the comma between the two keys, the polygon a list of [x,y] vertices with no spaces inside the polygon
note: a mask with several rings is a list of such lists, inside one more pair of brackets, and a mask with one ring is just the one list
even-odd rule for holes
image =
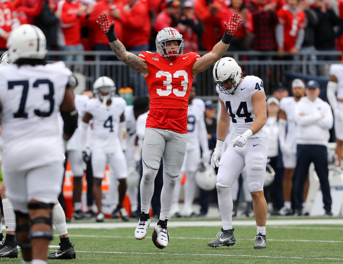
{"label": "white helmet with dark stripe on number 44's bowed head", "polygon": [[[234,94],[241,78],[241,73],[242,69],[233,58],[221,58],[214,64],[214,82],[219,86],[220,91],[225,94]],[[231,81],[231,83],[229,83],[229,81]],[[223,87],[224,82],[228,84],[227,88]]]}

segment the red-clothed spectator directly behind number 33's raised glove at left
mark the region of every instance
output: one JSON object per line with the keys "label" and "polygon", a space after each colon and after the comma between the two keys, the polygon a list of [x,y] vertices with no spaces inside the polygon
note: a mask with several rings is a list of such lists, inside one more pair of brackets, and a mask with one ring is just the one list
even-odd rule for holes
{"label": "red-clothed spectator directly behind number 33's raised glove at left", "polygon": [[99,29],[99,26],[97,26],[96,24],[96,20],[99,14],[106,14],[110,21],[114,21],[116,23],[116,35],[118,39],[123,39],[123,27],[120,21],[120,18],[122,16],[121,5],[118,4],[117,1],[101,0],[96,3],[96,5],[94,6],[94,10],[89,17],[89,25],[94,32],[95,44],[105,44],[109,46],[106,35]]}

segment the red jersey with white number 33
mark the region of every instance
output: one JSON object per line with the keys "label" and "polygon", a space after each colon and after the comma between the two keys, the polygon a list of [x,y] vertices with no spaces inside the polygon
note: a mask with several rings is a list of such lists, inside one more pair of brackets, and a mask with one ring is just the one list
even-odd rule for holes
{"label": "red jersey with white number 33", "polygon": [[146,127],[187,134],[188,98],[194,79],[192,68],[200,55],[189,52],[173,61],[149,51],[142,51],[138,56],[149,71],[145,77],[150,95]]}

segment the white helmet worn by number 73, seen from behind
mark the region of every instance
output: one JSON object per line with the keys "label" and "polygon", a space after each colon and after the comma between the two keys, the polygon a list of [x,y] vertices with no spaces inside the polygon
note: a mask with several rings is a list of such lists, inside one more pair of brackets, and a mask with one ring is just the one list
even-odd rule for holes
{"label": "white helmet worn by number 73, seen from behind", "polygon": [[48,52],[42,30],[29,24],[21,25],[11,31],[7,39],[7,48],[11,62],[19,58],[44,59]]}

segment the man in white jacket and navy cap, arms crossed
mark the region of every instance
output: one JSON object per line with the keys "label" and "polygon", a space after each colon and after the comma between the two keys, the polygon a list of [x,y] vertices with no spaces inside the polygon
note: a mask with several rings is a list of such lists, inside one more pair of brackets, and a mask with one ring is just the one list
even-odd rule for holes
{"label": "man in white jacket and navy cap, arms crossed", "polygon": [[303,204],[304,184],[310,163],[315,164],[326,215],[331,213],[331,195],[328,180],[327,145],[329,129],[333,125],[333,115],[328,103],[318,98],[320,93],[317,81],[306,84],[306,96],[295,106],[297,165],[294,174],[294,215],[300,215]]}

